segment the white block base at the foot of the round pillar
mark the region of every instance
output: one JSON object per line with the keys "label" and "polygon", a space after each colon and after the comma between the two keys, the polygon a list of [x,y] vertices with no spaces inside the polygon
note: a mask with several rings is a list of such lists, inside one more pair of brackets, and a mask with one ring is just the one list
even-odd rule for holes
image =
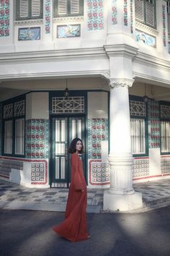
{"label": "white block base at the foot of the round pillar", "polygon": [[104,191],[103,210],[127,212],[142,208],[142,206],[142,193],[140,192],[132,190],[131,192],[120,194],[109,190]]}

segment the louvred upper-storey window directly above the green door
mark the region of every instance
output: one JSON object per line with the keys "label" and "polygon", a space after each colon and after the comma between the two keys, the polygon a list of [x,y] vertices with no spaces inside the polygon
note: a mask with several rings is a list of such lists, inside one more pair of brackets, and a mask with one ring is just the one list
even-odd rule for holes
{"label": "louvred upper-storey window directly above the green door", "polygon": [[82,16],[84,0],[54,0],[54,17]]}

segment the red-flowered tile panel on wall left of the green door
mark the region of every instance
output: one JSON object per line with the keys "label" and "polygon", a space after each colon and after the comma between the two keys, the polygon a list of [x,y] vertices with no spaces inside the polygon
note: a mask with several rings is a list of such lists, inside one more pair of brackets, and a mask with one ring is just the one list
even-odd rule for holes
{"label": "red-flowered tile panel on wall left of the green door", "polygon": [[27,158],[48,158],[48,120],[27,120],[25,138]]}

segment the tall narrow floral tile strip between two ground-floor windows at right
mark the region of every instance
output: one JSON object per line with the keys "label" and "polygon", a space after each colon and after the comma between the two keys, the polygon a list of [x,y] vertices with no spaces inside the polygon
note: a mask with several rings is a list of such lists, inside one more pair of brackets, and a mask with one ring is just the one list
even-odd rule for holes
{"label": "tall narrow floral tile strip between two ground-floor windows at right", "polygon": [[158,102],[148,101],[148,127],[149,148],[159,148],[161,135]]}

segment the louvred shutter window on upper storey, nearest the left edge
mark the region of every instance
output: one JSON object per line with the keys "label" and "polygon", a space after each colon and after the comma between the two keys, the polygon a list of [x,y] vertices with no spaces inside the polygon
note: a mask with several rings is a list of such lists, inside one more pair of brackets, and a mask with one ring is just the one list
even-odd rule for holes
{"label": "louvred shutter window on upper storey, nearest the left edge", "polygon": [[43,17],[42,0],[16,0],[16,20],[35,20]]}

